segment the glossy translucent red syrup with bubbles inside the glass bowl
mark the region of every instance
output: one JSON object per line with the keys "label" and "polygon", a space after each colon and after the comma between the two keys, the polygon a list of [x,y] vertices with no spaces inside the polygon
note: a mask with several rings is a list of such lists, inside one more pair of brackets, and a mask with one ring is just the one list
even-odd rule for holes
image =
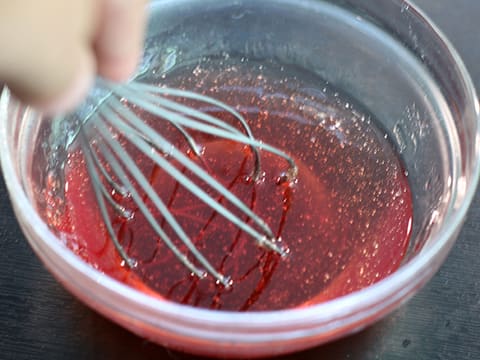
{"label": "glossy translucent red syrup with bubbles inside the glass bowl", "polygon": [[[201,160],[191,158],[260,215],[289,254],[281,257],[257,246],[128,144],[186,233],[218,271],[232,278],[232,287],[225,289],[212,277],[192,276],[129,199],[122,205],[133,209],[134,216],[113,216],[113,223],[138,266],[122,265],[101,221],[83,154],[75,147],[65,167],[64,210],[55,223],[67,246],[92,266],[149,294],[220,310],[306,306],[362,289],[394,272],[408,247],[412,201],[402,165],[384,134],[338,94],[326,88],[313,91],[309,80],[287,76],[284,68],[233,71],[220,65],[215,72],[197,67],[193,75],[171,80],[171,85],[196,84],[199,90],[209,89],[207,95],[238,105],[257,139],[294,158],[298,177],[293,183],[282,182],[288,164],[262,151],[261,178],[254,181],[248,146],[199,133],[193,135],[203,154]],[[189,153],[175,129],[136,111]],[[214,115],[231,121],[222,112]],[[174,238],[166,221],[155,215]]]}

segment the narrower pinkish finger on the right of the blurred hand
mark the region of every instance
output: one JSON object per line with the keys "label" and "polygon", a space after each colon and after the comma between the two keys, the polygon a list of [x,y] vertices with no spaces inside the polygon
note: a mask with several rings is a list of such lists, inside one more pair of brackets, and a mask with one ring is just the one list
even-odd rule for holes
{"label": "narrower pinkish finger on the right of the blurred hand", "polygon": [[104,0],[95,39],[98,73],[114,81],[133,75],[143,49],[146,0]]}

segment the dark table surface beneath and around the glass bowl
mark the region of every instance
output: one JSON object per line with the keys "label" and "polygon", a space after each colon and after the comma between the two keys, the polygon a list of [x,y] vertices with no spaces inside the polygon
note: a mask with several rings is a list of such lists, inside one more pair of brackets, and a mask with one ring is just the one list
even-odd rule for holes
{"label": "dark table surface beneath and around the glass bowl", "polygon": [[[381,0],[379,0],[381,1]],[[480,89],[480,1],[418,0]],[[448,260],[411,301],[367,330],[280,359],[480,359],[480,191]],[[0,180],[0,360],[182,359],[67,293],[26,243]]]}

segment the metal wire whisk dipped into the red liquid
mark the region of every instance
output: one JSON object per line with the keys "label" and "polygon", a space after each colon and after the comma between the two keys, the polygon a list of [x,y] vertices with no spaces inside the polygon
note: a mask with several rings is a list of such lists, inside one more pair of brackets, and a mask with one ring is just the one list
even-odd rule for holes
{"label": "metal wire whisk dipped into the red liquid", "polygon": [[[137,262],[127,254],[120,244],[112,224],[110,215],[112,211],[109,211],[109,209],[113,208],[115,213],[125,218],[131,217],[132,211],[120,204],[118,196],[128,196],[133,200],[137,209],[141,211],[159,238],[193,274],[200,278],[211,275],[225,287],[232,284],[230,277],[218,272],[195,247],[195,244],[187,236],[168,206],[142,173],[135,159],[128,153],[124,146],[124,140],[123,142],[120,141],[119,137],[115,135],[116,133],[121,134],[123,139],[133,144],[134,148],[146,155],[165,173],[174,177],[180,186],[185,187],[199,201],[207,204],[216,213],[248,234],[259,246],[282,256],[288,252],[286,248],[281,246],[280,239],[275,237],[270,227],[258,214],[255,214],[250,207],[213,178],[206,169],[202,168],[201,164],[194,162],[185,151],[174,146],[162,135],[161,131],[155,130],[147,124],[133,109],[141,109],[142,113],[149,113],[158,118],[158,121],[173,125],[182,135],[191,152],[197,157],[201,157],[202,154],[192,136],[192,132],[201,132],[248,145],[252,149],[254,159],[252,174],[254,180],[258,179],[261,173],[260,153],[262,151],[273,153],[286,160],[288,169],[285,175],[288,179],[294,179],[297,173],[297,167],[291,157],[275,147],[256,140],[246,120],[238,111],[210,97],[135,81],[127,85],[113,85],[102,82],[101,86],[105,89],[106,96],[103,96],[100,103],[97,99],[95,107],[82,120],[78,138],[82,144],[82,151],[103,222],[126,265],[135,267]],[[193,100],[210,108],[227,112],[233,116],[238,126],[233,126],[209,113],[174,101],[175,98]],[[95,136],[94,139],[89,138],[86,124],[95,127],[98,136]],[[112,129],[114,129],[114,132],[112,132]],[[206,189],[188,178],[172,163],[173,161],[188,169],[202,183],[220,194],[224,201],[227,200],[231,206],[240,212],[241,216],[234,214],[220,201],[213,198]],[[115,196],[112,194],[115,194]],[[161,214],[161,217],[173,229],[178,240],[186,246],[188,254],[183,253],[162,228],[159,220],[155,218],[154,213],[147,206],[145,196],[148,198],[149,204],[154,205],[156,213]],[[246,218],[248,221],[242,220],[242,218]]]}

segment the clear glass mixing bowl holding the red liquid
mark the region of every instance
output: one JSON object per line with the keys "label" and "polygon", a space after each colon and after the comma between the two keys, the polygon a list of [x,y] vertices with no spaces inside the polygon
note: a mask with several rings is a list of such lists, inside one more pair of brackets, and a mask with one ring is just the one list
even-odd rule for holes
{"label": "clear glass mixing bowl holding the red liquid", "polygon": [[[228,312],[151,297],[74,255],[38,213],[50,119],[4,91],[0,156],[18,221],[52,274],[90,307],[158,344],[219,357],[289,353],[359,331],[438,270],[479,175],[478,102],[451,44],[405,0],[157,0],[140,72],[164,74],[218,54],[275,59],[320,76],[378,119],[412,190],[411,242],[399,269],[346,296],[303,308]],[[161,39],[159,41],[158,39]],[[39,155],[40,154],[40,155]],[[33,166],[35,163],[35,166]]]}

